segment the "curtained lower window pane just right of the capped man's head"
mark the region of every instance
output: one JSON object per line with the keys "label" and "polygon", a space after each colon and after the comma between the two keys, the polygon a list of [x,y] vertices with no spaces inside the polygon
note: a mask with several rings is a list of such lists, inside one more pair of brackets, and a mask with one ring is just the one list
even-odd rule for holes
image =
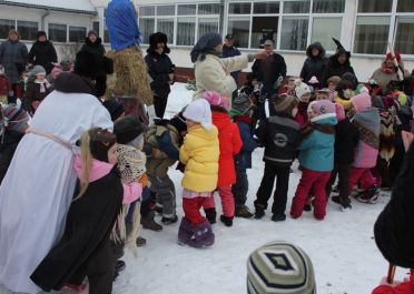
{"label": "curtained lower window pane just right of the capped man's head", "polygon": [[308,18],[284,18],[280,49],[306,50]]}

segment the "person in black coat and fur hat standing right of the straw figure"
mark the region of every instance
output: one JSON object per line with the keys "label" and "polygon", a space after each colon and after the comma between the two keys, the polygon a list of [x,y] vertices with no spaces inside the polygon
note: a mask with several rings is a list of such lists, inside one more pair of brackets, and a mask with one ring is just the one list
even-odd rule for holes
{"label": "person in black coat and fur hat standing right of the straw figure", "polygon": [[154,92],[154,108],[157,118],[162,119],[167,108],[168,94],[174,83],[175,65],[168,57],[167,34],[157,32],[149,36],[148,54],[145,62],[148,73],[152,79],[151,90]]}

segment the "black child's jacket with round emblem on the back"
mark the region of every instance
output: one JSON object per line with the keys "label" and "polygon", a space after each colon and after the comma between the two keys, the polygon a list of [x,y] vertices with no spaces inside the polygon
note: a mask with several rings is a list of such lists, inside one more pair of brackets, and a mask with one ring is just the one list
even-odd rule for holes
{"label": "black child's jacket with round emblem on the back", "polygon": [[277,112],[259,124],[258,140],[265,145],[263,160],[279,166],[290,166],[300,142],[299,124],[289,115]]}

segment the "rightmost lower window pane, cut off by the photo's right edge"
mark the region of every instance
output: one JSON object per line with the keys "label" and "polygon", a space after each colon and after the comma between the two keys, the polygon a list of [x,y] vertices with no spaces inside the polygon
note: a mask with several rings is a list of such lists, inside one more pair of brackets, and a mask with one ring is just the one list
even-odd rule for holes
{"label": "rightmost lower window pane, cut off by the photo's right edge", "polygon": [[395,51],[403,54],[414,54],[414,18],[397,17]]}

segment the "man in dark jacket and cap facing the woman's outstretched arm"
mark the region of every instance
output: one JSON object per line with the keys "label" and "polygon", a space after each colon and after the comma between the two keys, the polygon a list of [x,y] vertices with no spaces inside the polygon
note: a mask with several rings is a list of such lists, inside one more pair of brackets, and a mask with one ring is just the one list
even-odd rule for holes
{"label": "man in dark jacket and cap facing the woman's outstretched arm", "polygon": [[[257,80],[263,83],[263,94],[265,94],[269,101],[269,113],[275,114],[272,99],[286,77],[286,62],[285,59],[274,52],[274,43],[272,40],[266,40],[264,43],[265,51],[268,52],[268,58],[263,60],[256,60],[253,63],[252,71],[257,74]],[[259,119],[266,118],[264,102],[258,103]]]}

